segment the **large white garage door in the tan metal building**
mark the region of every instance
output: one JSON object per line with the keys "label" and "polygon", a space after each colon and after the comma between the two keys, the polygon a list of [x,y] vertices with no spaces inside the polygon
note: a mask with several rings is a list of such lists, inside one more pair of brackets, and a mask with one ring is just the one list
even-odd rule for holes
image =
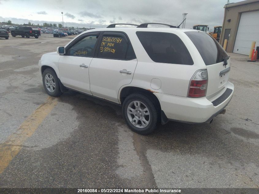
{"label": "large white garage door in the tan metal building", "polygon": [[253,41],[256,41],[255,47],[259,46],[259,11],[241,14],[233,52],[249,55]]}

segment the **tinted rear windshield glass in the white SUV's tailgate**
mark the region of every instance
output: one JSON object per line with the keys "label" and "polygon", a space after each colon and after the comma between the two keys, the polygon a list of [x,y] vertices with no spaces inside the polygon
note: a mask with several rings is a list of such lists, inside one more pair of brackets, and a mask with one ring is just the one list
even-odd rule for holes
{"label": "tinted rear windshield glass in the white SUV's tailgate", "polygon": [[205,65],[220,63],[228,55],[222,46],[205,32],[185,32],[199,51]]}

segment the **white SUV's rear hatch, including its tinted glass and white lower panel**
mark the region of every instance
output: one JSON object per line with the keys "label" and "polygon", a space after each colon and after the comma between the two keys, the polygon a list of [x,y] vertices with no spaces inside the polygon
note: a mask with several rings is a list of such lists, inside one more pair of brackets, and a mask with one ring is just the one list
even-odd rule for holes
{"label": "white SUV's rear hatch, including its tinted glass and white lower panel", "polygon": [[209,34],[201,31],[189,31],[185,34],[191,39],[207,67],[208,87],[206,96],[210,96],[211,99],[225,90],[230,72],[229,56]]}

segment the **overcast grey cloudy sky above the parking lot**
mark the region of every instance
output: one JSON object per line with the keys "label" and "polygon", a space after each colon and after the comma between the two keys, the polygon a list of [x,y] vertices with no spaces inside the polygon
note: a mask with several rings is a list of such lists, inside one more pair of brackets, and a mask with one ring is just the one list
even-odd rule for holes
{"label": "overcast grey cloudy sky above the parking lot", "polygon": [[[230,3],[241,0],[230,0]],[[105,28],[112,23],[146,22],[179,25],[186,16],[185,28],[202,24],[222,25],[227,0],[0,0],[0,22]]]}

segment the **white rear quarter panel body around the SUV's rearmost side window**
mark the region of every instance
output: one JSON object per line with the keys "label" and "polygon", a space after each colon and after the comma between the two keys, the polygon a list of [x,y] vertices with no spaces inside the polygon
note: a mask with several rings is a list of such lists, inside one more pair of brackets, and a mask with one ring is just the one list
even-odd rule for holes
{"label": "white rear quarter panel body around the SUV's rearmost side window", "polygon": [[[141,29],[139,31],[141,31]],[[155,29],[152,29],[150,31],[155,31]],[[163,30],[163,32],[172,33],[170,29],[168,31]],[[206,69],[206,66],[199,52],[192,44],[188,36],[185,35],[185,33],[182,32],[180,29],[179,31],[174,30],[173,33],[181,38],[181,40],[189,50],[194,64],[182,65],[171,63],[156,63],[150,59],[147,52],[140,43],[136,33],[128,34],[138,60],[138,64],[130,86],[149,89],[152,92],[157,93],[167,93],[182,97],[187,96],[189,82],[193,74],[199,69]],[[184,55],[184,53],[182,55]],[[151,80],[153,78],[161,80],[160,89],[151,88]]]}

